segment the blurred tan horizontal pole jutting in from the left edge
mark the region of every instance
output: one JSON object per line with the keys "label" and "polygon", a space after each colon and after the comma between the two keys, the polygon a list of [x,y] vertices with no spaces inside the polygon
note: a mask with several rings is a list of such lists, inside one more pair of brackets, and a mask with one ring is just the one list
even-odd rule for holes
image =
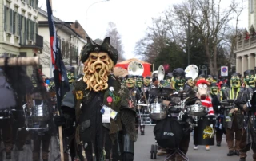
{"label": "blurred tan horizontal pole jutting in from the left edge", "polygon": [[0,58],[0,66],[22,66],[22,65],[39,65],[39,57],[6,57]]}

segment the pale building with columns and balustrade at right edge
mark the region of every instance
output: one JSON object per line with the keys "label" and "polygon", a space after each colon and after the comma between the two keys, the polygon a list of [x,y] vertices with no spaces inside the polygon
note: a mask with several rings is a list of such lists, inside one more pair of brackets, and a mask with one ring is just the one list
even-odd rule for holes
{"label": "pale building with columns and balustrade at right edge", "polygon": [[241,73],[247,69],[254,69],[256,66],[256,0],[248,0],[248,27],[241,33],[240,40],[237,41],[236,72]]}

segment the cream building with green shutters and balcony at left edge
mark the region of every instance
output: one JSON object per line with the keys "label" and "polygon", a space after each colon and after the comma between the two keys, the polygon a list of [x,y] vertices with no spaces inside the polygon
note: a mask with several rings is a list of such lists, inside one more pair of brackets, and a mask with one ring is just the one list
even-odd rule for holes
{"label": "cream building with green shutters and balcony at left edge", "polygon": [[[0,54],[32,57],[42,52],[38,35],[38,0],[0,1]],[[32,67],[27,67],[32,73]]]}

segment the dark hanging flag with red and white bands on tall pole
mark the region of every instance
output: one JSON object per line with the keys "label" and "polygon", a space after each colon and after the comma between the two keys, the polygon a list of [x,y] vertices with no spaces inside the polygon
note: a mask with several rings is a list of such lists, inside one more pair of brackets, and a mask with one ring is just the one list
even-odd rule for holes
{"label": "dark hanging flag with red and white bands on tall pole", "polygon": [[50,6],[50,0],[47,1],[48,24],[50,31],[50,57],[53,66],[54,83],[56,88],[58,108],[61,106],[62,97],[66,94],[63,91],[70,91],[70,85],[66,75],[66,68],[62,61],[61,49],[58,47],[57,33],[54,26],[53,12]]}

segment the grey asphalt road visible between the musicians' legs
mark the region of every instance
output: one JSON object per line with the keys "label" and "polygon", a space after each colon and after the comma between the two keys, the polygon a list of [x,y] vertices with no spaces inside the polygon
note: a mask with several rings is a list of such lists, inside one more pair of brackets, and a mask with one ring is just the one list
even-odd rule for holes
{"label": "grey asphalt road visible between the musicians' legs", "polygon": [[[135,143],[134,161],[153,161],[150,159],[151,144],[154,144],[154,127],[146,127],[146,135],[138,135]],[[226,156],[228,148],[226,145],[225,135],[222,138],[222,146],[211,146],[210,151],[206,151],[204,146],[199,146],[198,150],[193,149],[193,134],[191,133],[190,147],[187,153],[190,161],[238,161],[238,156]],[[252,161],[252,151],[247,153],[246,161]],[[158,156],[156,160],[164,160],[164,156]]]}

